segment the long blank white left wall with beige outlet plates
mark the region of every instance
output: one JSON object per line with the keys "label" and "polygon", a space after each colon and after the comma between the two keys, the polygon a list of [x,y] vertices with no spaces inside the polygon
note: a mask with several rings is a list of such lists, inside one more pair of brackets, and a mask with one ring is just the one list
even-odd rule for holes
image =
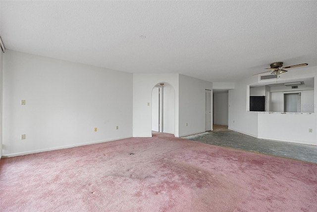
{"label": "long blank white left wall with beige outlet plates", "polygon": [[[131,137],[132,77],[7,50],[3,55],[3,155]],[[21,100],[26,100],[25,106]],[[21,134],[26,134],[25,140]]]}

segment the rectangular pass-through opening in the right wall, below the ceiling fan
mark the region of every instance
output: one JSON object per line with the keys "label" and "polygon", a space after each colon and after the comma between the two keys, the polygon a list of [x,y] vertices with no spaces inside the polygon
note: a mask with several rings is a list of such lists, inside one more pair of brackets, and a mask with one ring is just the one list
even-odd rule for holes
{"label": "rectangular pass-through opening in the right wall, below the ceiling fan", "polygon": [[249,111],[315,112],[314,77],[250,85]]}

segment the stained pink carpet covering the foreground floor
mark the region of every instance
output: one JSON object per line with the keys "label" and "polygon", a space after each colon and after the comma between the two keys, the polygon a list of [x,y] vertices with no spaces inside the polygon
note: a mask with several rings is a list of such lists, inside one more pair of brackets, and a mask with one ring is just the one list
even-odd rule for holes
{"label": "stained pink carpet covering the foreground floor", "polygon": [[316,212],[317,164],[155,134],[0,160],[2,212]]}

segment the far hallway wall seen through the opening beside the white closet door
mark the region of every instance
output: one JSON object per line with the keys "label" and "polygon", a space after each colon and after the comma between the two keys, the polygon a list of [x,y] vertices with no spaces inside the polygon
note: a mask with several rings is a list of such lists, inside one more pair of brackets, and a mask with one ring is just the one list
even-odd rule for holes
{"label": "far hallway wall seen through the opening beside the white closet door", "polygon": [[226,93],[213,93],[213,123],[228,125],[228,98]]}

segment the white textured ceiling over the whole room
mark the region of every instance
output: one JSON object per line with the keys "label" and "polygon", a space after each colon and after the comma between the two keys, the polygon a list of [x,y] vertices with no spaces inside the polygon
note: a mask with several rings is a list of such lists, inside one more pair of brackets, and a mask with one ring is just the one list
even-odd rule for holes
{"label": "white textured ceiling over the whole room", "polygon": [[0,7],[7,49],[114,70],[233,82],[275,61],[317,65],[315,0],[1,0]]}

